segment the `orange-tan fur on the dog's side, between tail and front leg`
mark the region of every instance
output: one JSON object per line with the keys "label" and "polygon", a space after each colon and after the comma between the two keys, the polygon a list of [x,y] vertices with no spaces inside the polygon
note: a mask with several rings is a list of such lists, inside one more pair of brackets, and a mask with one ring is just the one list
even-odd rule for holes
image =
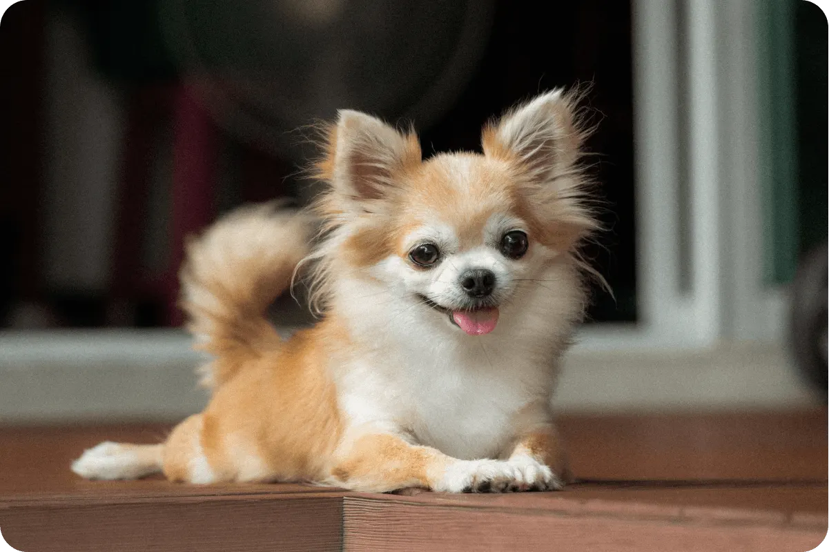
{"label": "orange-tan fur on the dog's side, between tail and front leg", "polygon": [[239,478],[238,458],[225,451],[229,435],[261,459],[261,479],[319,481],[342,432],[329,347],[347,346],[341,328],[322,322],[298,332],[281,351],[250,364],[205,410],[203,446],[221,478]]}

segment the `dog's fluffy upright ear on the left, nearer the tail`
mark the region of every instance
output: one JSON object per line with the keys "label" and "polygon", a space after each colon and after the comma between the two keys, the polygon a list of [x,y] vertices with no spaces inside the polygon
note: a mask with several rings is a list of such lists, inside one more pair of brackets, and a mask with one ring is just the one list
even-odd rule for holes
{"label": "dog's fluffy upright ear on the left, nearer the tail", "polygon": [[327,136],[318,177],[331,186],[338,208],[351,211],[367,201],[384,199],[395,178],[420,162],[414,133],[403,134],[371,115],[342,109]]}

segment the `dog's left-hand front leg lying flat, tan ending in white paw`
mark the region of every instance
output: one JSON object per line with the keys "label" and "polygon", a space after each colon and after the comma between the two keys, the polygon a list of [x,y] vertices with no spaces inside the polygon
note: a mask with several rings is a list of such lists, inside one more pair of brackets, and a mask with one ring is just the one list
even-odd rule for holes
{"label": "dog's left-hand front leg lying flat, tan ending in white paw", "polygon": [[[502,492],[525,484],[525,473],[521,471],[525,463],[488,458],[459,460],[436,448],[411,444],[399,435],[366,433],[337,455],[328,483],[368,492],[406,487],[445,492]],[[546,469],[549,473],[550,469]]]}

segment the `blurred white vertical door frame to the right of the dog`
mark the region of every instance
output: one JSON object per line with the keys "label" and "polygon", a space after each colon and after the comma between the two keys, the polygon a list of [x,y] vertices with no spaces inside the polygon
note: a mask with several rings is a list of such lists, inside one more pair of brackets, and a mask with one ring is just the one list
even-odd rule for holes
{"label": "blurred white vertical door frame to the right of the dog", "polygon": [[[685,29],[676,26],[679,7]],[[758,10],[751,0],[633,1],[636,324],[585,327],[583,351],[780,341],[787,298],[763,281]],[[677,45],[687,36],[689,128],[681,186]],[[687,229],[677,208],[685,208]],[[691,291],[681,290],[681,240]]]}

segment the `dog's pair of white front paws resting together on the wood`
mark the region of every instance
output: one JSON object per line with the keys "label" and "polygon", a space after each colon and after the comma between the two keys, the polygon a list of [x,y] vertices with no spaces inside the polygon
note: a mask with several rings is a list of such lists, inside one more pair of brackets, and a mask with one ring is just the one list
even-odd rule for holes
{"label": "dog's pair of white front paws resting together on the wood", "polygon": [[561,487],[550,467],[531,458],[516,458],[453,462],[433,488],[445,492],[514,492],[549,491]]}

